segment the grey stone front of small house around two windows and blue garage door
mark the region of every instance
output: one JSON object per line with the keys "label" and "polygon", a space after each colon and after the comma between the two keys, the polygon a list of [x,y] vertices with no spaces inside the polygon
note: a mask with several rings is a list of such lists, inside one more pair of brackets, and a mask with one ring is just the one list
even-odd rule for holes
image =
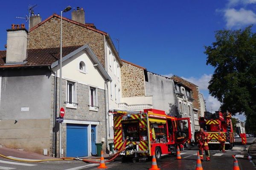
{"label": "grey stone front of small house around two windows and blue garage door", "polygon": [[[57,78],[56,88],[57,88],[57,94],[56,95],[56,101],[55,105],[58,108],[58,101],[59,101],[59,78]],[[51,78],[52,81],[52,105],[51,105],[51,122],[50,126],[53,127],[53,114],[54,112],[54,77]],[[66,104],[64,102],[66,101],[66,80],[62,79],[62,107],[65,109],[65,116],[64,119],[72,119],[72,120],[81,120],[81,121],[97,121],[100,122],[100,125],[97,125],[97,138],[96,142],[101,142],[101,138],[106,137],[106,125],[105,125],[105,91],[102,89],[97,89],[97,99],[98,99],[98,111],[90,111],[89,110],[89,86],[83,85],[80,83],[76,83],[76,102],[79,104],[76,109],[72,108],[66,108]],[[58,116],[57,116],[58,117]],[[53,133],[55,133],[55,151],[58,155],[58,123],[55,123],[55,128],[51,132],[51,144],[53,144]],[[88,143],[89,144],[89,143]],[[62,123],[62,148],[66,148],[66,124]],[[102,145],[102,149],[106,150],[105,144]],[[51,148],[52,153],[53,150]],[[55,153],[55,154],[56,154]],[[63,155],[66,155],[66,150],[63,150]]]}

